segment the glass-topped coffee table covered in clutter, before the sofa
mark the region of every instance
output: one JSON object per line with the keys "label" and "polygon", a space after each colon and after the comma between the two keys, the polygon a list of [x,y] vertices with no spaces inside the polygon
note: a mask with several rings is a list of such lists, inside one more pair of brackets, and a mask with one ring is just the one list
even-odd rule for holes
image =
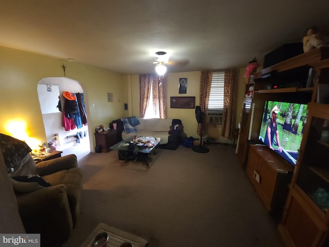
{"label": "glass-topped coffee table covered in clutter, before the sofa", "polygon": [[121,140],[121,142],[113,145],[110,149],[118,150],[119,160],[124,160],[125,162],[131,160],[142,160],[148,166],[149,158],[152,154],[156,154],[161,138],[153,138],[152,136],[145,137],[145,139],[149,139],[150,142],[141,145],[140,143],[131,143],[133,137],[134,136],[131,136],[127,139]]}

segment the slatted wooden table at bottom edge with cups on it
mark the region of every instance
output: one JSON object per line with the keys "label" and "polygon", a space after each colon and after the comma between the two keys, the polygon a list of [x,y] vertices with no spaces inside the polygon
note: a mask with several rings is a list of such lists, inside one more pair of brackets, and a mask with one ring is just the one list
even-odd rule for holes
{"label": "slatted wooden table at bottom edge with cups on it", "polygon": [[134,247],[145,247],[148,244],[143,238],[140,238],[131,233],[121,231],[113,226],[99,223],[95,230],[86,238],[86,240],[80,245],[80,247],[93,247],[93,239],[97,234],[105,232],[108,235],[106,247],[117,247],[123,242],[130,242]]}

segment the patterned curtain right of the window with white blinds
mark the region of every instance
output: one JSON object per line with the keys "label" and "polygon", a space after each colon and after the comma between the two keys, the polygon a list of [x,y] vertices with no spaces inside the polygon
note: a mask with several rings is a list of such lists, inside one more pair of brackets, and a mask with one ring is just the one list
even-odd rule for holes
{"label": "patterned curtain right of the window with white blinds", "polygon": [[225,70],[224,75],[224,110],[222,134],[224,137],[232,137],[234,123],[234,102],[236,87],[236,69]]}

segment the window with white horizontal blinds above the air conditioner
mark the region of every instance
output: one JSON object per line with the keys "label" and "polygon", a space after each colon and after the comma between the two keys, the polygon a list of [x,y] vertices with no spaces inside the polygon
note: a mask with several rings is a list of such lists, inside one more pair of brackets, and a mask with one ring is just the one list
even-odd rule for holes
{"label": "window with white horizontal blinds above the air conditioner", "polygon": [[221,115],[224,108],[225,72],[213,72],[208,103],[208,115]]}

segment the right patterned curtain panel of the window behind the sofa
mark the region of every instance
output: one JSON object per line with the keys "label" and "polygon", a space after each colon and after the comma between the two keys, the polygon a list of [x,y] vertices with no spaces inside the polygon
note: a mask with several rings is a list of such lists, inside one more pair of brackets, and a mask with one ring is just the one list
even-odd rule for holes
{"label": "right patterned curtain panel of the window behind the sofa", "polygon": [[167,77],[153,75],[153,111],[159,118],[167,118]]}

